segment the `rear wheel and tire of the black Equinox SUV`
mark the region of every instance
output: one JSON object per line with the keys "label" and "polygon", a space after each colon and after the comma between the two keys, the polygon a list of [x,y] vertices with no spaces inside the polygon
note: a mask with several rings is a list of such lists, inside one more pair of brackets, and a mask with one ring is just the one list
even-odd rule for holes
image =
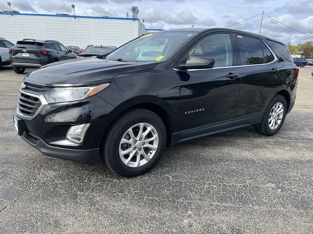
{"label": "rear wheel and tire of the black Equinox SUV", "polygon": [[[276,119],[277,122],[276,122],[275,118],[270,121],[269,120],[270,117],[272,117],[273,113],[275,113],[275,111],[274,111],[275,105],[276,105],[276,107],[278,107],[277,108],[278,109],[277,113],[281,112],[281,109],[279,109],[280,104],[278,104],[278,103],[282,104],[282,106],[284,108],[284,110],[282,112],[283,116],[281,116],[281,114],[277,115],[278,118],[279,117],[281,118],[280,122],[279,122],[278,118]],[[275,95],[274,98],[272,98],[271,101],[269,102],[268,107],[266,108],[266,110],[264,112],[264,115],[263,115],[261,123],[258,124],[257,126],[255,126],[256,131],[259,134],[262,134],[262,135],[265,135],[265,136],[273,136],[273,135],[275,135],[281,129],[281,127],[283,126],[286,114],[287,114],[287,102],[286,102],[286,99],[283,96],[281,96],[281,95]],[[271,125],[271,127],[270,127],[270,124],[272,124],[272,123],[274,123],[274,125]]]}

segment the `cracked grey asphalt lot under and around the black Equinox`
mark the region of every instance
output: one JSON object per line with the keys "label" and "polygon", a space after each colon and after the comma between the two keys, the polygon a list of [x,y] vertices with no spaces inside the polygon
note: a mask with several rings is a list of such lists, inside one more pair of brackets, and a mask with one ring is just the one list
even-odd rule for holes
{"label": "cracked grey asphalt lot under and around the black Equinox", "polygon": [[[246,127],[179,143],[134,178],[44,156],[17,136],[24,75],[0,70],[0,234],[313,233],[313,67],[273,137]],[[26,70],[26,72],[29,70]]]}

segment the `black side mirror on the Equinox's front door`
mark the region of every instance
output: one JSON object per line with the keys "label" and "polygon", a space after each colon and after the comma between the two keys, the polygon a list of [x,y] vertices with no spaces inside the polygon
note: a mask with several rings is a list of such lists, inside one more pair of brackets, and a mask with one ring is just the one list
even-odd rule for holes
{"label": "black side mirror on the Equinox's front door", "polygon": [[179,64],[179,70],[213,68],[215,59],[203,56],[190,56],[185,64]]}

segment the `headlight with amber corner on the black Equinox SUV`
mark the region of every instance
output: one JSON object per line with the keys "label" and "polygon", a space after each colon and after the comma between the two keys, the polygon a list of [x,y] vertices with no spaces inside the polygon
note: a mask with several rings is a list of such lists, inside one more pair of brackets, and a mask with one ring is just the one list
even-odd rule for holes
{"label": "headlight with amber corner on the black Equinox SUV", "polygon": [[89,98],[106,89],[110,83],[99,86],[53,88],[44,94],[48,103],[76,101]]}

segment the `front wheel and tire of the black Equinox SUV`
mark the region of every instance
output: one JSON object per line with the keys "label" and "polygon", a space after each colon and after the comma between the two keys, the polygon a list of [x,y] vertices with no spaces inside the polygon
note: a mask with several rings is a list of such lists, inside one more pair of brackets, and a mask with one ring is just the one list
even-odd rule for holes
{"label": "front wheel and tire of the black Equinox SUV", "polygon": [[[139,133],[136,130],[140,130],[139,126],[143,126],[142,133],[146,133],[149,125],[153,127],[151,127],[152,130],[145,137],[140,138],[140,140],[138,137]],[[130,129],[132,129],[133,137],[128,134]],[[157,138],[153,141],[144,142],[145,139],[152,139],[155,136]],[[137,143],[135,142],[136,138],[138,140],[136,141]],[[132,142],[132,144],[122,143],[122,139]],[[157,145],[155,150],[150,149],[153,146],[150,143]],[[149,110],[138,108],[122,114],[112,124],[112,127],[103,139],[100,153],[101,158],[113,173],[119,176],[133,177],[149,171],[156,164],[162,156],[165,144],[166,129],[162,119]],[[130,153],[121,156],[124,153],[123,150]],[[143,153],[146,157],[141,155]],[[127,161],[129,165],[127,165]]]}

